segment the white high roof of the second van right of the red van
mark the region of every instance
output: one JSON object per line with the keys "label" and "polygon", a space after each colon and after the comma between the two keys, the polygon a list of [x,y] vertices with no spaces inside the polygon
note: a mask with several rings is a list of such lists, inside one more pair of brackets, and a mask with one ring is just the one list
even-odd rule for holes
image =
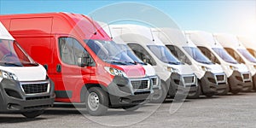
{"label": "white high roof of the second van right of the red van", "polygon": [[[134,42],[135,40],[137,43],[140,44],[154,44],[154,45],[164,45],[157,38],[151,29],[147,26],[139,26],[139,25],[110,25],[111,32],[114,32],[113,37],[120,36],[126,42]],[[132,37],[132,40],[131,40]],[[154,41],[153,41],[154,40]]]}

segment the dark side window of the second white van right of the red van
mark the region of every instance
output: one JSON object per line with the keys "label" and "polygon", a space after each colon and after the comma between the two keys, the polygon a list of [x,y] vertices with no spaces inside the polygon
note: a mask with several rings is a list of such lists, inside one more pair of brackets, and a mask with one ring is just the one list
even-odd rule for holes
{"label": "dark side window of the second white van right of the red van", "polygon": [[[143,48],[140,44],[128,44],[128,46],[133,50],[135,55],[144,62],[148,62],[150,65],[155,66],[156,62],[153,57],[148,54],[148,51]],[[146,61],[148,60],[148,61]]]}

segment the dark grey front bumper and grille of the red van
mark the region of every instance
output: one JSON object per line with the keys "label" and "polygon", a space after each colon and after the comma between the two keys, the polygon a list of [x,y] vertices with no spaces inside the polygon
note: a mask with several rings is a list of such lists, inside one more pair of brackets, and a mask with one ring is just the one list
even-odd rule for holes
{"label": "dark grey front bumper and grille of the red van", "polygon": [[149,78],[127,79],[119,76],[114,77],[107,90],[110,108],[121,108],[150,102],[154,93]]}

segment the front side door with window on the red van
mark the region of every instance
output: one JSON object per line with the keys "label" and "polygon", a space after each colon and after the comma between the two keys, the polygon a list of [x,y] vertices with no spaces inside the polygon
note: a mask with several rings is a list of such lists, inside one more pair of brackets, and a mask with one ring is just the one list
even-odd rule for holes
{"label": "front side door with window on the red van", "polygon": [[59,37],[57,40],[59,62],[55,66],[56,101],[80,102],[82,87],[90,83],[91,66],[80,67],[78,60],[88,55],[88,52],[75,38]]}

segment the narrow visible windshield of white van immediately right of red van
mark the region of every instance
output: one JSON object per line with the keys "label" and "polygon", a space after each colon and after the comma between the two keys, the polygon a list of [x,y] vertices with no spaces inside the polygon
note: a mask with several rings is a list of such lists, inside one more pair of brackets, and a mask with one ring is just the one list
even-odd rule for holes
{"label": "narrow visible windshield of white van immediately right of red van", "polygon": [[126,44],[118,44],[119,47],[135,62],[139,64],[145,64],[143,61],[141,61],[137,55],[134,55],[133,51],[128,47]]}

